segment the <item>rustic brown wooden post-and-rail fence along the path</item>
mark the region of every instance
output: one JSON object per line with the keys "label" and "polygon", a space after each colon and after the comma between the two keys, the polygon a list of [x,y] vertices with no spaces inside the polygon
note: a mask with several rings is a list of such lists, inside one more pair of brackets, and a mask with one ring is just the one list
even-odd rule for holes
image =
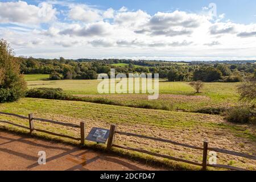
{"label": "rustic brown wooden post-and-rail fence along the path", "polygon": [[[80,140],[81,144],[84,145],[84,142],[85,142],[85,123],[84,122],[80,122],[80,125],[75,125],[75,124],[72,124],[72,123],[64,123],[64,122],[59,122],[59,121],[52,121],[52,120],[49,120],[49,119],[35,118],[33,114],[28,114],[28,117],[24,117],[24,116],[18,115],[18,114],[5,113],[5,112],[1,112],[1,111],[0,111],[0,114],[11,115],[11,116],[19,117],[19,118],[22,118],[22,119],[27,119],[28,122],[29,122],[30,127],[18,125],[16,123],[12,123],[12,122],[9,122],[9,121],[0,121],[0,122],[7,123],[7,124],[10,124],[10,125],[14,125],[14,126],[18,126],[18,127],[22,127],[23,129],[28,129],[28,130],[30,130],[30,134],[32,134],[34,131],[39,131],[39,132],[43,132],[43,133],[47,133],[47,134],[51,134],[51,135],[56,135],[58,137],[65,137],[65,138],[69,138],[69,139]],[[46,131],[46,130],[36,129],[35,125],[34,125],[35,121],[49,122],[49,123],[53,123],[53,124],[56,124],[56,125],[80,128],[80,138],[75,138],[75,137],[71,137],[71,136],[63,135],[63,134],[52,133],[52,132]],[[162,139],[162,138],[147,137],[147,136],[144,136],[144,135],[117,131],[116,128],[117,127],[115,125],[110,125],[108,144],[107,144],[107,147],[106,147],[106,150],[108,150],[108,151],[111,150],[112,147],[117,147],[117,148],[122,148],[122,149],[125,149],[125,150],[131,150],[131,151],[136,151],[136,152],[142,152],[142,153],[148,154],[148,155],[158,156],[160,158],[167,158],[167,159],[176,160],[176,161],[179,161],[179,162],[184,162],[184,163],[189,163],[189,164],[193,164],[193,165],[196,165],[196,166],[201,166],[203,170],[206,170],[207,166],[217,167],[217,168],[226,168],[226,169],[232,169],[232,170],[238,170],[238,171],[245,171],[246,170],[246,169],[233,167],[233,166],[228,166],[228,165],[223,165],[223,164],[209,164],[209,163],[207,163],[208,151],[216,151],[216,152],[220,152],[222,154],[240,156],[240,157],[243,157],[243,158],[256,160],[256,156],[254,156],[254,155],[242,154],[240,152],[224,150],[224,149],[221,149],[221,148],[208,147],[208,141],[207,140],[204,140],[202,147],[198,147],[198,146],[192,146],[192,145],[189,145],[189,144],[179,143],[179,142],[175,142],[175,141],[167,140],[167,139]],[[187,148],[192,148],[192,149],[195,149],[195,150],[203,151],[202,152],[203,161],[202,161],[202,163],[197,163],[197,162],[192,162],[192,161],[186,160],[186,159],[175,158],[175,157],[169,156],[169,155],[157,154],[157,153],[150,152],[150,151],[147,151],[147,150],[142,150],[142,149],[139,149],[139,148],[119,146],[117,144],[114,144],[116,134],[126,135],[126,136],[130,136],[130,137],[139,137],[139,138],[144,138],[144,139],[151,139],[151,140],[155,140],[155,141],[159,141],[159,142],[171,143],[171,144],[175,144],[177,146],[182,146],[182,147],[187,147]]]}

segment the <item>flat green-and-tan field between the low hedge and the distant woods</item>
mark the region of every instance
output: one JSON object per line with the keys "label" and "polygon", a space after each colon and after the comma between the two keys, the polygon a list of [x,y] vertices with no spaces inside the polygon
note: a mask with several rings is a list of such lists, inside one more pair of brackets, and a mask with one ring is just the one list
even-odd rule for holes
{"label": "flat green-and-tan field between the low hedge and the distant woods", "polygon": [[200,94],[195,94],[188,82],[159,82],[159,100],[149,101],[147,94],[98,94],[97,80],[28,81],[28,88],[62,88],[80,97],[108,98],[126,106],[158,105],[172,109],[194,111],[203,107],[233,106],[238,101],[237,83],[205,83]]}

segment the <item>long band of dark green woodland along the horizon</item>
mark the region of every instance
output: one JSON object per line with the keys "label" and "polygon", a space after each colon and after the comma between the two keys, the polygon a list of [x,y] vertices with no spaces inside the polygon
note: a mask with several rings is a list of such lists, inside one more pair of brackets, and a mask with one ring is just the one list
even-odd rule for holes
{"label": "long band of dark green woodland along the horizon", "polygon": [[[256,75],[256,64],[253,63],[187,63],[175,64],[168,61],[119,60],[104,59],[35,59],[33,57],[18,57],[20,72],[23,74],[50,74],[52,80],[60,79],[96,79],[99,73],[159,73],[159,78],[168,81],[223,81],[239,82],[242,78]],[[125,67],[113,64],[125,63]]]}

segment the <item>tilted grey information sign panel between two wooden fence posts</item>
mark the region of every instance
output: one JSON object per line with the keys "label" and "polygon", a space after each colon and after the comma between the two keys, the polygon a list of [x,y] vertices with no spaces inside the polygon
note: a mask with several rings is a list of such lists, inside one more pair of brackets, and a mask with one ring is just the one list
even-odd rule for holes
{"label": "tilted grey information sign panel between two wooden fence posts", "polygon": [[92,141],[92,142],[106,143],[106,140],[108,138],[109,138],[109,130],[108,129],[101,129],[99,127],[93,127],[85,139]]}

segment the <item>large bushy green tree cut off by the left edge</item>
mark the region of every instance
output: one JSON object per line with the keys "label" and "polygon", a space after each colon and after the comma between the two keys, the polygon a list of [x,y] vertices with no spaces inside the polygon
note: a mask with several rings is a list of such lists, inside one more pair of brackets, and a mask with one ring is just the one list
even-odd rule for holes
{"label": "large bushy green tree cut off by the left edge", "polygon": [[9,44],[0,40],[0,102],[11,102],[23,97],[27,84],[22,75],[18,60]]}

